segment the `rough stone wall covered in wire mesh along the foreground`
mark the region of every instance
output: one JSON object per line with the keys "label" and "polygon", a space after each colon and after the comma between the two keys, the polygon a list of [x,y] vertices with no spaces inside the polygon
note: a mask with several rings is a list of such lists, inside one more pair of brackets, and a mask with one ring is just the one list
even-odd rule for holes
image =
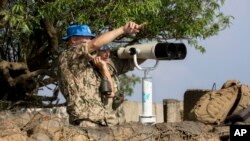
{"label": "rough stone wall covered in wire mesh along the foreground", "polygon": [[229,126],[199,122],[127,122],[113,127],[84,128],[68,124],[65,108],[0,111],[0,141],[220,141]]}

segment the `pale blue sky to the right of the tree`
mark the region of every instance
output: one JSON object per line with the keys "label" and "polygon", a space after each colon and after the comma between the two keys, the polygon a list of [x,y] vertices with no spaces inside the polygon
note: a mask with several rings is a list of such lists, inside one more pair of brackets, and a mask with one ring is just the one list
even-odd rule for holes
{"label": "pale blue sky to the right of the tree", "polygon": [[[160,61],[158,67],[149,72],[154,102],[183,100],[187,89],[212,89],[213,83],[220,89],[230,79],[250,85],[250,0],[226,0],[221,10],[234,19],[231,26],[217,36],[200,41],[206,48],[205,54],[186,45],[185,60]],[[149,60],[142,66],[154,63],[154,60]],[[137,69],[130,73],[140,77],[144,75]],[[141,101],[141,93],[142,84],[137,84],[134,94],[126,98]]]}

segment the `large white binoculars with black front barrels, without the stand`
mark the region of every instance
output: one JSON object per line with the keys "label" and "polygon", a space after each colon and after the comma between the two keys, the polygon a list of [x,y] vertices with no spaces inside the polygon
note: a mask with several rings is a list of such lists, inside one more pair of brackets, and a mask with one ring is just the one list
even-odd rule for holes
{"label": "large white binoculars with black front barrels, without the stand", "polygon": [[121,59],[133,58],[137,54],[140,59],[182,60],[186,57],[187,49],[183,43],[150,43],[121,47],[117,56]]}

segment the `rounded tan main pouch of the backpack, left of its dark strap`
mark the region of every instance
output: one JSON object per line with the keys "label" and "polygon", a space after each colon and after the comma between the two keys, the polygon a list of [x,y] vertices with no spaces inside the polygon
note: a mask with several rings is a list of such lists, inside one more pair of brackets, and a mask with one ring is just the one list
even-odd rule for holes
{"label": "rounded tan main pouch of the backpack, left of its dark strap", "polygon": [[232,108],[237,93],[236,86],[206,93],[191,110],[192,119],[203,123],[220,124]]}

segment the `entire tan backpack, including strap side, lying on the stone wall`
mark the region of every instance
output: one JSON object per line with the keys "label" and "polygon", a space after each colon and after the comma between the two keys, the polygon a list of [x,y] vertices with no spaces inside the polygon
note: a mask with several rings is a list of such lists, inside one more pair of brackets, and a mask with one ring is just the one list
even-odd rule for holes
{"label": "entire tan backpack, including strap side, lying on the stone wall", "polygon": [[204,94],[190,112],[190,118],[203,123],[221,124],[232,113],[247,108],[250,87],[237,80],[226,81],[220,90]]}

